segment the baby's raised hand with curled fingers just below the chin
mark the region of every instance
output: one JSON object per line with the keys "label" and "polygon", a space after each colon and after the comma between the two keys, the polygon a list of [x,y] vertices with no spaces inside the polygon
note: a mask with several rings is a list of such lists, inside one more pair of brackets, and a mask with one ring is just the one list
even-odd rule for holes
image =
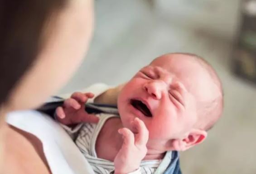
{"label": "baby's raised hand with curled fingers just below the chin", "polygon": [[124,142],[114,160],[115,174],[127,174],[139,169],[140,162],[147,153],[149,131],[139,118],[135,118],[133,124],[138,130],[135,135],[128,128],[118,130],[123,135]]}

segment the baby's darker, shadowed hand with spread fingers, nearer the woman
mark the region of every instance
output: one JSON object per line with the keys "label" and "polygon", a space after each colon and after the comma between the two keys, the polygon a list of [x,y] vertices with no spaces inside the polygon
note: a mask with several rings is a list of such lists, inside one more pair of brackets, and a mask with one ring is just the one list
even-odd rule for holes
{"label": "baby's darker, shadowed hand with spread fingers, nearer the woman", "polygon": [[64,101],[63,106],[56,109],[57,119],[60,123],[78,124],[78,123],[98,123],[99,118],[94,114],[88,114],[85,111],[85,103],[88,98],[92,98],[94,94],[75,92],[70,98]]}

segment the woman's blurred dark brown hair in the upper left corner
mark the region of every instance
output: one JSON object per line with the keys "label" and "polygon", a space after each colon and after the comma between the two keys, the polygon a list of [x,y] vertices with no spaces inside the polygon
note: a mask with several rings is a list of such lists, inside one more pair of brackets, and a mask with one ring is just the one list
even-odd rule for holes
{"label": "woman's blurred dark brown hair in the upper left corner", "polygon": [[0,105],[36,59],[43,27],[66,0],[0,0]]}

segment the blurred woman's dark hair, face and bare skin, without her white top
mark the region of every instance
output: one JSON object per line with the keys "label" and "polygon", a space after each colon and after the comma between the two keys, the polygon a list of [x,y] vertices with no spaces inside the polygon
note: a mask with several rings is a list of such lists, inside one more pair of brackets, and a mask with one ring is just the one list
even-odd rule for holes
{"label": "blurred woman's dark hair, face and bare skin, without her white top", "polygon": [[5,123],[72,76],[92,36],[92,0],[0,0],[0,174],[49,174],[42,144]]}

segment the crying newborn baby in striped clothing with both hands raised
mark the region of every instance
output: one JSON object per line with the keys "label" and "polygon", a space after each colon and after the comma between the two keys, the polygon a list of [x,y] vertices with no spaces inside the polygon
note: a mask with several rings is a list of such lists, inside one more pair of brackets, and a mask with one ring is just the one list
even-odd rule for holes
{"label": "crying newborn baby in striped clothing with both hands raised", "polygon": [[222,96],[206,61],[174,53],[156,58],[122,87],[118,114],[88,114],[85,103],[93,94],[75,92],[56,115],[77,134],[75,142],[97,174],[164,173],[172,152],[205,140],[222,114]]}

